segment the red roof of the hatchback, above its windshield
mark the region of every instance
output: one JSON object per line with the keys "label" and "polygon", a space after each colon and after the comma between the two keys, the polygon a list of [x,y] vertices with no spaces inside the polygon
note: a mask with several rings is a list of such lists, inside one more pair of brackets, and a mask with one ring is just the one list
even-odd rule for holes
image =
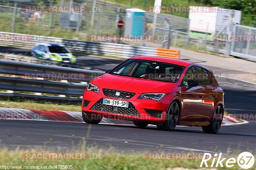
{"label": "red roof of the hatchback, above its windshield", "polygon": [[159,62],[177,64],[185,67],[193,63],[185,60],[168,58],[168,57],[158,57],[158,56],[135,56],[135,57],[132,57],[131,59],[159,61]]}

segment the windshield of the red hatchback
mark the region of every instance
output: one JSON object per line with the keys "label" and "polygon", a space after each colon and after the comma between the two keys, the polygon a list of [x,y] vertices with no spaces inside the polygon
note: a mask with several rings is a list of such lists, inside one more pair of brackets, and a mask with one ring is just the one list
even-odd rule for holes
{"label": "windshield of the red hatchback", "polygon": [[130,59],[111,70],[110,74],[158,81],[177,82],[184,67],[171,63]]}

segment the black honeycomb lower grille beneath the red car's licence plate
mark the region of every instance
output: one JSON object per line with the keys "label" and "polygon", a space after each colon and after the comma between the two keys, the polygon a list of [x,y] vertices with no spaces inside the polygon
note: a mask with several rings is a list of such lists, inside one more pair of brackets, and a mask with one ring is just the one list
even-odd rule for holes
{"label": "black honeycomb lower grille beneath the red car's licence plate", "polygon": [[[101,111],[101,112],[108,112],[108,113],[116,113],[121,115],[129,115],[129,116],[137,116],[142,117],[138,110],[133,106],[131,102],[129,102],[128,108],[126,107],[118,107],[118,112],[113,111],[113,106],[102,104],[103,99],[97,101],[93,106],[92,110]],[[114,106],[117,107],[117,106]]]}

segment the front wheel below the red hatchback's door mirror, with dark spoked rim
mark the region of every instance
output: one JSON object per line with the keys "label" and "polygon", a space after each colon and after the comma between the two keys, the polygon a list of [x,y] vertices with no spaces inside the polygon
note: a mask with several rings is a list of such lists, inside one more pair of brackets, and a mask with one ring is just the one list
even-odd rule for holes
{"label": "front wheel below the red hatchback's door mirror, with dark spoked rim", "polygon": [[165,122],[161,126],[156,126],[159,130],[172,131],[178,124],[180,108],[177,102],[172,102],[165,116]]}

